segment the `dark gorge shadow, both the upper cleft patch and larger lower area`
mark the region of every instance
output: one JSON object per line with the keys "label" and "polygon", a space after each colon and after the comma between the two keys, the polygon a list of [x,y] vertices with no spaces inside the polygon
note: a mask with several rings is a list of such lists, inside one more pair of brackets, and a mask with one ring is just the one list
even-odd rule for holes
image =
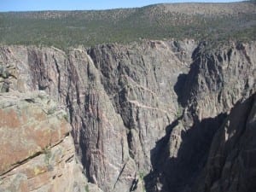
{"label": "dark gorge shadow, both the upper cleft patch and larger lower area", "polygon": [[[202,91],[198,89],[201,63],[208,61],[212,64],[206,55],[201,55],[205,46],[205,43],[201,43],[194,50],[189,73],[180,74],[174,86],[177,102],[183,108],[187,108],[188,103],[196,102],[192,99],[195,98],[198,91]],[[206,163],[212,138],[223,124],[226,116],[226,113],[220,113],[214,118],[199,120],[195,108],[190,106],[186,115],[182,115],[168,125],[166,136],[161,138],[155,148],[151,150],[153,171],[144,177],[147,191],[182,192],[189,189]],[[187,119],[193,120],[193,125],[189,127],[184,125],[183,122],[187,122]],[[181,133],[179,133],[180,131]],[[175,156],[170,152],[170,140],[174,143],[180,140]]]}

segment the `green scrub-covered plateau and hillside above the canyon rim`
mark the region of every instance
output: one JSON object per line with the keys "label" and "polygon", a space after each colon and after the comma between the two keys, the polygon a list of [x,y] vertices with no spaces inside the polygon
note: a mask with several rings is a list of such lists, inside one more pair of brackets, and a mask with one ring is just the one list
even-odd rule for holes
{"label": "green scrub-covered plateau and hillside above the canyon rim", "polygon": [[56,47],[141,38],[255,40],[256,3],[174,3],[136,9],[0,13],[1,44]]}

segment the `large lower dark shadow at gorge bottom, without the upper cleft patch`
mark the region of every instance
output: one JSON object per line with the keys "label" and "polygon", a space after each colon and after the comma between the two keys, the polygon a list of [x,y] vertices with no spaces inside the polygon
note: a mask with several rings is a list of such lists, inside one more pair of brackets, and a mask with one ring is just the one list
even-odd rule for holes
{"label": "large lower dark shadow at gorge bottom, without the upper cleft patch", "polygon": [[[182,131],[182,143],[175,158],[170,157],[168,143],[181,118],[168,125],[166,136],[151,150],[153,171],[144,177],[147,192],[182,192],[188,189],[206,163],[212,137],[226,116],[226,113],[220,113],[215,118],[197,120],[188,131]],[[159,190],[157,183],[162,185]]]}

